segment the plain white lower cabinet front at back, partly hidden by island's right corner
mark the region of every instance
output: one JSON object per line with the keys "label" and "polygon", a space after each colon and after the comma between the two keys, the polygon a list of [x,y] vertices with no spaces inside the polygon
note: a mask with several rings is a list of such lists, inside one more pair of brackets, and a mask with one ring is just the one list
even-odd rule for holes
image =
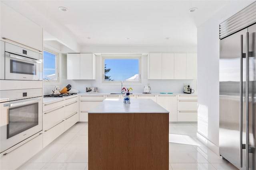
{"label": "plain white lower cabinet front at back, partly hidden by island's right corner", "polygon": [[169,121],[177,121],[176,95],[157,95],[157,104],[169,111]]}

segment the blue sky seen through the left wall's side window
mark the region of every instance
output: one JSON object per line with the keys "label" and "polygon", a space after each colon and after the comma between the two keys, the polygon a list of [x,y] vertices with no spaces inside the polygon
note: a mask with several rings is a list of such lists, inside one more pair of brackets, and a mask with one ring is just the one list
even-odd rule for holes
{"label": "blue sky seen through the left wall's side window", "polygon": [[46,78],[46,76],[55,74],[56,70],[56,59],[55,55],[52,53],[48,53],[47,51],[44,51],[44,73],[43,77]]}

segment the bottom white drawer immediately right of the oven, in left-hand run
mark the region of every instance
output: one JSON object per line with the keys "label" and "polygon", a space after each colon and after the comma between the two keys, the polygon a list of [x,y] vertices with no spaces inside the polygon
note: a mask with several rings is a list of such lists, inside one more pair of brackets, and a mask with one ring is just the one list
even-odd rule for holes
{"label": "bottom white drawer immediately right of the oven, in left-hand run", "polygon": [[59,137],[65,129],[64,120],[57,123],[53,127],[44,130],[43,147],[49,145],[54,139]]}

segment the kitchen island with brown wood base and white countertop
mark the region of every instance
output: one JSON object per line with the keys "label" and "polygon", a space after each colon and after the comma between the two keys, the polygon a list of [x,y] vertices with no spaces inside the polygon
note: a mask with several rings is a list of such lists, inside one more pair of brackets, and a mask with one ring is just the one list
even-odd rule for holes
{"label": "kitchen island with brown wood base and white countertop", "polygon": [[168,113],[151,99],[104,100],[88,111],[88,168],[168,170]]}

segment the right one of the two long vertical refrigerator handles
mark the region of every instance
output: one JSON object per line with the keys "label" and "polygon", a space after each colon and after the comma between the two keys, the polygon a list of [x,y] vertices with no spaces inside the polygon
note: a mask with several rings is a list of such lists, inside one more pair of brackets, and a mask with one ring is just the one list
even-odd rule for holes
{"label": "right one of the two long vertical refrigerator handles", "polygon": [[249,33],[246,32],[246,92],[245,92],[245,107],[246,107],[246,170],[249,170]]}

